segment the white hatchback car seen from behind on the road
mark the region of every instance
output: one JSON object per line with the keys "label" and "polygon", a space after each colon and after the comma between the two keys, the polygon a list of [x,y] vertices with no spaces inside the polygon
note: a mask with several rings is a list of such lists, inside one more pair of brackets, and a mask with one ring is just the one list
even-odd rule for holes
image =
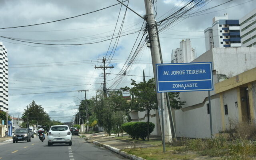
{"label": "white hatchback car seen from behind on the road", "polygon": [[54,143],[66,143],[72,145],[72,134],[67,125],[52,126],[48,132],[48,146]]}

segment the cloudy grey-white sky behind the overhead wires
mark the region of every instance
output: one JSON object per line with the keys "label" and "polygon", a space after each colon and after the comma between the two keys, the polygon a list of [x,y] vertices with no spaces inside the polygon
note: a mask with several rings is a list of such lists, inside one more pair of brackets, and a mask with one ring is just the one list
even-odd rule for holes
{"label": "cloudy grey-white sky behind the overhead wires", "polygon": [[[157,0],[154,3],[156,21],[159,22],[174,10],[178,10],[187,1]],[[228,2],[204,1],[205,4],[193,11],[198,12]],[[51,22],[100,10],[117,3],[116,0],[1,0],[0,28]],[[253,10],[255,4],[255,0],[233,0],[206,10],[201,13],[202,15],[190,16],[170,24],[160,33],[164,62],[170,62],[171,50],[178,48],[184,38],[190,38],[192,47],[196,48],[196,54],[200,56],[205,52],[203,31],[211,27],[214,16],[228,13],[230,19],[240,19]],[[144,0],[130,0],[128,5],[144,16]],[[21,116],[26,106],[35,100],[36,104],[42,105],[53,119],[69,122],[71,117],[74,117],[74,108],[78,108],[76,105],[80,99],[84,99],[84,92],[77,90],[88,90],[87,98],[91,98],[95,96],[96,90],[102,89],[102,70],[95,69],[94,66],[102,65],[103,57],[106,57],[108,66],[114,66],[113,69],[106,70],[107,73],[111,73],[106,78],[107,88],[119,89],[129,86],[131,78],[141,81],[142,70],[148,78],[153,76],[150,50],[146,47],[144,39],[140,45],[140,52],[137,52],[132,63],[128,63],[129,68],[126,71],[128,75],[138,76],[122,76],[122,79],[118,79],[119,76],[116,75],[126,68],[124,66],[127,66],[125,62],[129,54],[134,54],[134,43],[136,49],[143,33],[139,31],[144,25],[144,20],[130,10],[125,14],[125,10],[124,6],[121,8],[118,4],[58,22],[1,29],[0,36],[16,40],[72,44],[32,44],[0,37],[0,42],[3,42],[8,50],[10,114],[15,117]],[[120,28],[122,36],[116,38]]]}

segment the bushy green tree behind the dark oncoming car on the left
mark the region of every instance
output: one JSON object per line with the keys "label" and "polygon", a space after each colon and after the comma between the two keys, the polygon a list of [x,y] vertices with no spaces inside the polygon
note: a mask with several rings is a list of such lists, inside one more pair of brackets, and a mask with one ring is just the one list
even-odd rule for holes
{"label": "bushy green tree behind the dark oncoming car on the left", "polygon": [[33,100],[31,104],[28,106],[28,110],[24,109],[24,112],[22,114],[22,119],[27,122],[27,116],[28,116],[28,122],[30,124],[38,124],[44,126],[49,125],[51,120],[49,115],[44,111],[44,108],[42,108],[41,105],[38,105]]}

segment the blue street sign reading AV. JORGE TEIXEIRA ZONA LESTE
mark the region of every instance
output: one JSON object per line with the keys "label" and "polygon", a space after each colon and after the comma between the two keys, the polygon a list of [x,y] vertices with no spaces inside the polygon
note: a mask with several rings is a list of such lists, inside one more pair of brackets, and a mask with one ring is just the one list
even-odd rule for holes
{"label": "blue street sign reading AV. JORGE TEIXEIRA ZONA LESTE", "polygon": [[213,90],[212,62],[156,64],[157,92]]}

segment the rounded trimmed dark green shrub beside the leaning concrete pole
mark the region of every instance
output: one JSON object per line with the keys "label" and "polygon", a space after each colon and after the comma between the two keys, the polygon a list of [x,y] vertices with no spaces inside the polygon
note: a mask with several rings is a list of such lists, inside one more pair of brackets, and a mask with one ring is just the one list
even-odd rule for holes
{"label": "rounded trimmed dark green shrub beside the leaning concrete pole", "polygon": [[[145,140],[148,135],[148,124],[147,122],[128,122],[122,124],[121,128],[128,133],[132,139],[138,140],[141,138]],[[149,134],[153,132],[155,124],[149,122]]]}

